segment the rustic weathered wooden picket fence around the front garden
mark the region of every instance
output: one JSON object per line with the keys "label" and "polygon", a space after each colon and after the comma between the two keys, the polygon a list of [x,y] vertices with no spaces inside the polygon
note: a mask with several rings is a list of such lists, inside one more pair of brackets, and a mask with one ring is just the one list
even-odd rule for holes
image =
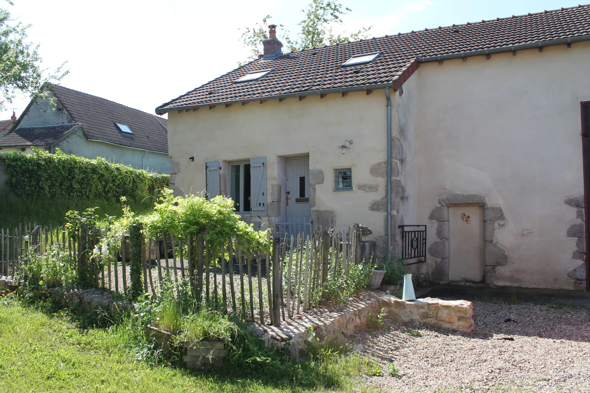
{"label": "rustic weathered wooden picket fence around the front garden", "polygon": [[[329,280],[342,279],[360,260],[357,224],[342,232],[278,235],[267,230],[268,247],[250,255],[231,239],[210,243],[207,232],[179,239],[172,231],[162,236],[122,239],[120,252],[96,249],[105,228],[41,227],[30,223],[0,232],[2,275],[17,275],[28,263],[28,249],[38,253],[57,245],[84,267],[86,283],[94,288],[129,293],[133,283],[156,296],[166,285],[189,286],[196,304],[207,303],[224,312],[240,313],[250,321],[280,326],[281,321],[327,303]],[[280,237],[282,236],[282,237]],[[272,246],[271,246],[272,245]],[[110,247],[113,248],[113,247]],[[92,257],[91,257],[92,256]],[[134,258],[142,268],[132,269]],[[278,267],[278,268],[276,268]]]}

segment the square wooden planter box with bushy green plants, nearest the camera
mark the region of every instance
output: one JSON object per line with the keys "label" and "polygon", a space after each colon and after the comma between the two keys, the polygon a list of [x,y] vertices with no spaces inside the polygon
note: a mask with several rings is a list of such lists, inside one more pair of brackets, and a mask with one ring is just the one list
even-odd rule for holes
{"label": "square wooden planter box with bushy green plants, nearest the camera", "polygon": [[227,346],[238,332],[230,316],[206,307],[186,317],[179,341],[183,364],[188,369],[222,369]]}

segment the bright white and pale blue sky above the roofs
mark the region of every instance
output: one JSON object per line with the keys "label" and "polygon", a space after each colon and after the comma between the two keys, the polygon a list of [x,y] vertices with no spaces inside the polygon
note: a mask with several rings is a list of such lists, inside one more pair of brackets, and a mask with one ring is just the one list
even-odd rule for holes
{"label": "bright white and pale blue sky above the roofs", "polygon": [[[310,0],[13,0],[15,22],[30,24],[47,72],[63,62],[60,84],[148,113],[237,67],[247,57],[240,28],[271,15],[293,38]],[[371,37],[578,5],[571,0],[339,0],[352,9],[345,31]],[[281,30],[277,32],[281,39]],[[29,100],[21,96],[0,120]]]}

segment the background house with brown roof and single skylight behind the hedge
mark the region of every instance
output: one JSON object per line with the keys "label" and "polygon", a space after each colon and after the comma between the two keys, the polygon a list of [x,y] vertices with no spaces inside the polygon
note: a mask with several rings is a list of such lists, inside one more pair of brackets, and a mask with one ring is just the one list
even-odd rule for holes
{"label": "background house with brown roof and single skylight behind the hedge", "polygon": [[46,84],[3,137],[0,151],[31,148],[103,157],[136,169],[168,173],[168,120],[60,85]]}

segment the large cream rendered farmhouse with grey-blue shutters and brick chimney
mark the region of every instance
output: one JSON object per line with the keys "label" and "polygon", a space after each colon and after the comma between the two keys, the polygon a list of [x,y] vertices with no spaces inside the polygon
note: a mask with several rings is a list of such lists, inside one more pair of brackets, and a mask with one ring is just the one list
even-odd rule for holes
{"label": "large cream rendered farmhouse with grey-blue shutters and brick chimney", "polygon": [[290,53],[269,37],[156,108],[176,193],[287,233],[366,224],[425,281],[588,289],[590,6]]}

